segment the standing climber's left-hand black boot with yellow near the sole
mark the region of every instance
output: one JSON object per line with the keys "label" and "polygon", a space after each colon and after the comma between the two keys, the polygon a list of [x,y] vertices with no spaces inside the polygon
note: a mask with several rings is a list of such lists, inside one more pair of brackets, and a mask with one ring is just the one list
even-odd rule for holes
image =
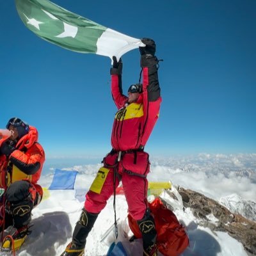
{"label": "standing climber's left-hand black boot with yellow near the sole", "polygon": [[86,237],[93,228],[93,225],[99,214],[87,212],[82,210],[79,221],[73,232],[72,241],[68,244],[65,252],[60,256],[83,256],[84,246],[86,244]]}

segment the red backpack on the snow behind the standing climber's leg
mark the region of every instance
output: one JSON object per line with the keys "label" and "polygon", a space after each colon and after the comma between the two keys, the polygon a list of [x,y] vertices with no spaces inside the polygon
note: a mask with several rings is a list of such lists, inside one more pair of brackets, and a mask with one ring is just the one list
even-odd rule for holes
{"label": "red backpack on the snow behind the standing climber's leg", "polygon": [[[156,224],[159,252],[164,256],[180,255],[189,245],[185,228],[179,223],[175,214],[159,198],[156,198],[148,206]],[[134,236],[141,238],[142,235],[138,223],[130,214],[128,214],[128,223]]]}

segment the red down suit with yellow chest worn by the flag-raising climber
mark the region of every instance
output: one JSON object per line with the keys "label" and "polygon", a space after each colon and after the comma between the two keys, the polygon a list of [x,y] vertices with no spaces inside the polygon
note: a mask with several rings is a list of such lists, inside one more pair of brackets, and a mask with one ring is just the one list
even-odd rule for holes
{"label": "red down suit with yellow chest worn by the flag-raising climber", "polygon": [[111,68],[111,93],[118,108],[111,133],[113,150],[104,157],[104,166],[86,194],[84,209],[88,212],[99,213],[106,206],[114,192],[115,170],[115,187],[122,180],[132,218],[141,220],[147,209],[150,163],[143,148],[156,124],[161,104],[157,58],[149,57],[141,56],[143,92],[135,103],[127,102],[122,93],[122,77]]}

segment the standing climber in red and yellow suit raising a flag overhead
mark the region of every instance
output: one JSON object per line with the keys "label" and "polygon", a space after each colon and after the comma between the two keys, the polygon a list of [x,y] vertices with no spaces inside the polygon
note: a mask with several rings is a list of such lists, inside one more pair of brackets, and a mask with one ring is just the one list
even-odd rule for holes
{"label": "standing climber in red and yellow suit raising a flag overhead", "polygon": [[150,163],[144,147],[159,116],[159,61],[155,56],[154,40],[143,38],[141,41],[145,44],[145,47],[140,47],[143,84],[132,84],[128,90],[128,97],[122,93],[122,60],[117,61],[113,56],[111,93],[118,108],[111,134],[113,149],[103,159],[104,166],[100,168],[86,194],[72,241],[61,256],[84,255],[86,237],[100,211],[106,206],[108,198],[113,193],[115,196],[115,188],[121,180],[129,213],[138,221],[141,230],[143,255],[157,255],[156,228],[147,202],[147,174],[150,171]]}

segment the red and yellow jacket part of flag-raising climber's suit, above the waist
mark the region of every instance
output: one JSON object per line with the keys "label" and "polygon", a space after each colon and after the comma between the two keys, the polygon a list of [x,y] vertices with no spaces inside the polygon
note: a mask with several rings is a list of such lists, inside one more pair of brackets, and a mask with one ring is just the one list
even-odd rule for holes
{"label": "red and yellow jacket part of flag-raising climber's suit, above the waist", "polygon": [[157,59],[153,59],[141,61],[143,93],[136,103],[127,103],[127,96],[122,94],[121,76],[111,73],[111,92],[118,108],[111,134],[111,145],[115,150],[144,147],[156,124],[162,100],[157,76]]}

